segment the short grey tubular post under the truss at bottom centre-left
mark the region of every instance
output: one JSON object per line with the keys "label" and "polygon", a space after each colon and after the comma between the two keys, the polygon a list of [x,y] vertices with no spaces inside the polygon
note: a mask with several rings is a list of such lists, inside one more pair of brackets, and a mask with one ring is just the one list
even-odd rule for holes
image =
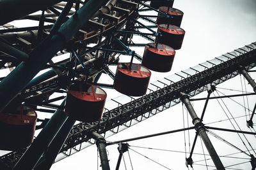
{"label": "short grey tubular post under the truss at bottom centre-left", "polygon": [[97,134],[97,132],[92,132],[91,135],[92,138],[95,139],[97,148],[99,150],[102,170],[110,170],[108,164],[108,155],[106,152],[106,140],[103,138],[103,136]]}

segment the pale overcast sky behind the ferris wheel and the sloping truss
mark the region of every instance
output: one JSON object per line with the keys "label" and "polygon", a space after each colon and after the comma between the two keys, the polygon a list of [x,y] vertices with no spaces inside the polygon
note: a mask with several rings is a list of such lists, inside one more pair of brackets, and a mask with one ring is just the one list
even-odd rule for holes
{"label": "pale overcast sky behind the ferris wheel and the sloping truss", "polygon": [[[256,1],[255,0],[176,0],[173,4],[174,8],[182,10],[184,12],[184,17],[182,20],[181,27],[186,31],[184,43],[180,50],[177,50],[175,60],[173,62],[172,71],[169,73],[156,73],[152,72],[151,82],[159,80],[160,78],[166,77],[170,74],[174,74],[182,69],[187,69],[188,67],[195,66],[200,62],[205,62],[205,60],[218,57],[224,53],[230,52],[236,48],[248,45],[253,41],[256,41]],[[142,40],[141,40],[142,41]],[[143,55],[143,48],[138,50],[140,55]],[[256,78],[255,74],[252,74]],[[243,78],[242,78],[243,80]],[[104,80],[106,81],[106,80]],[[241,90],[240,77],[236,80],[230,80],[230,83],[225,83],[221,85],[227,89],[234,88]],[[247,90],[252,91],[250,87]],[[114,90],[106,90],[108,92],[108,99],[119,96],[118,92]],[[225,91],[224,91],[225,93]],[[228,93],[228,92],[227,92]],[[201,94],[202,97],[206,97],[206,94]],[[240,103],[243,103],[243,99],[237,99]],[[228,106],[231,106],[230,112],[234,112],[236,116],[244,115],[244,108],[231,103],[230,101],[225,101]],[[252,106],[255,103],[255,97],[248,98],[248,105],[252,110]],[[204,102],[193,103],[198,111],[198,115],[202,113],[202,108]],[[106,106],[108,108],[108,106]],[[185,120],[186,110],[184,110]],[[218,105],[218,101],[211,101],[209,103],[209,108],[207,108],[207,113],[205,113],[204,123],[214,122],[214,120],[225,119],[225,114]],[[256,121],[256,120],[255,120]],[[191,118],[188,117],[189,125],[191,125]],[[246,120],[239,119],[239,123],[243,124],[244,130],[248,130],[245,127]],[[227,125],[228,122],[213,124],[212,126],[223,127]],[[188,124],[186,123],[186,126]],[[135,136],[141,136],[146,134],[152,134],[155,132],[170,131],[173,129],[179,129],[183,127],[183,117],[182,117],[182,105],[179,104],[169,110],[163,111],[154,117],[149,118],[136,124],[131,128],[122,131],[115,136],[108,138],[108,141],[115,141],[118,139],[132,138]],[[228,125],[227,127],[230,127]],[[231,128],[231,127],[230,127]],[[217,132],[216,132],[217,133]],[[193,138],[195,137],[195,131],[190,133],[191,145]],[[229,141],[239,140],[237,134],[221,133]],[[248,138],[252,138],[251,136]],[[233,148],[224,145],[220,141],[211,138],[212,143],[216,146],[216,150],[219,155],[225,155],[226,153],[237,152]],[[254,139],[254,141],[253,141]],[[256,144],[256,138],[253,136],[252,145],[254,147]],[[189,151],[189,138],[188,133],[186,133],[186,151]],[[139,141],[134,141],[129,143],[132,146],[143,146],[150,148],[160,148],[163,150],[177,150],[184,152],[184,133],[180,132],[172,135],[165,135],[157,138],[143,139]],[[241,141],[235,145],[241,146]],[[109,146],[109,164],[111,169],[115,169],[115,165],[118,158],[117,145]],[[241,148],[244,147],[241,146]],[[173,152],[163,152],[157,150],[147,150],[142,148],[131,147],[131,149],[137,152],[147,155],[147,157],[160,162],[164,166],[170,169],[186,169],[185,166],[185,153],[173,153]],[[200,138],[197,140],[196,153],[207,153],[207,150],[200,143]],[[141,157],[138,153],[129,150],[132,160],[133,169],[166,169],[166,167],[159,166],[155,162],[152,162],[145,157]],[[127,169],[132,169],[129,163],[129,156],[127,153],[124,154],[125,163]],[[243,157],[243,155],[234,155],[236,157]],[[209,158],[208,156],[206,156]],[[245,157],[248,158],[248,157]],[[204,156],[195,155],[193,160],[204,160]],[[248,162],[248,159],[227,159],[221,158],[223,160],[224,166],[236,164],[236,162]],[[198,162],[198,164],[205,164],[204,161]],[[207,165],[212,166],[211,160],[207,160]],[[194,166],[194,169],[207,169],[206,166]],[[101,169],[101,167],[99,167]],[[250,169],[250,164],[241,164],[241,166],[233,167],[236,169]],[[84,149],[66,159],[63,159],[52,166],[51,169],[97,169],[97,148],[95,145]],[[125,169],[124,160],[120,169]],[[208,169],[214,169],[213,167],[208,167]]]}

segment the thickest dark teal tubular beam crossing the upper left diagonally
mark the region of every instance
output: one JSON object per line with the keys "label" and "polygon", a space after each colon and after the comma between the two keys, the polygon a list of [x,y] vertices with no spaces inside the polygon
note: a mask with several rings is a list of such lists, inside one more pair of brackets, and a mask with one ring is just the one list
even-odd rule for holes
{"label": "thickest dark teal tubular beam crossing the upper left diagonally", "polygon": [[[105,2],[106,0],[90,0],[88,3],[84,4],[84,6],[77,11],[77,17],[69,18],[67,22],[58,29],[58,33],[56,32],[56,34],[47,38],[43,43],[40,43],[40,45],[29,54],[28,62],[19,64],[19,66],[0,82],[0,96],[5,96],[1,98],[0,111],[26,87],[28,82],[59,50],[61,50],[61,48],[63,48],[67,41],[88,22],[89,18],[91,18]],[[36,1],[36,3],[38,2]],[[17,81],[19,81],[19,83],[17,83]]]}

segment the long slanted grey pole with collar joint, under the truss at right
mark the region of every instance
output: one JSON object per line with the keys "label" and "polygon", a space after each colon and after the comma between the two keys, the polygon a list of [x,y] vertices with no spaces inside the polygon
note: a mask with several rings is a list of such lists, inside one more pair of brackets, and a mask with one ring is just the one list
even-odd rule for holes
{"label": "long slanted grey pole with collar joint, under the truss at right", "polygon": [[189,101],[189,97],[182,92],[180,93],[180,95],[181,95],[180,99],[188,109],[189,115],[191,116],[193,124],[195,125],[195,129],[198,132],[198,134],[200,134],[202,140],[204,141],[204,145],[207,148],[209,154],[211,155],[211,159],[214,162],[214,165],[218,170],[225,169],[225,167],[223,166],[220,160],[220,157],[218,156],[216,150],[214,149],[211,143],[211,140],[209,139],[209,137],[207,136],[207,133],[205,132],[204,125],[202,124],[202,122],[200,122],[200,118],[197,117],[196,112]]}

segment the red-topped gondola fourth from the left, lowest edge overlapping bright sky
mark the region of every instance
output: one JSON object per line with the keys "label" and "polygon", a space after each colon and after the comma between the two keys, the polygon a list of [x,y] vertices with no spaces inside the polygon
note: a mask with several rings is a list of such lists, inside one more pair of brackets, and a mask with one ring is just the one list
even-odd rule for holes
{"label": "red-topped gondola fourth from the left, lowest edge overlapping bright sky", "polygon": [[172,69],[175,50],[167,45],[148,43],[145,45],[142,65],[159,72],[168,72]]}

